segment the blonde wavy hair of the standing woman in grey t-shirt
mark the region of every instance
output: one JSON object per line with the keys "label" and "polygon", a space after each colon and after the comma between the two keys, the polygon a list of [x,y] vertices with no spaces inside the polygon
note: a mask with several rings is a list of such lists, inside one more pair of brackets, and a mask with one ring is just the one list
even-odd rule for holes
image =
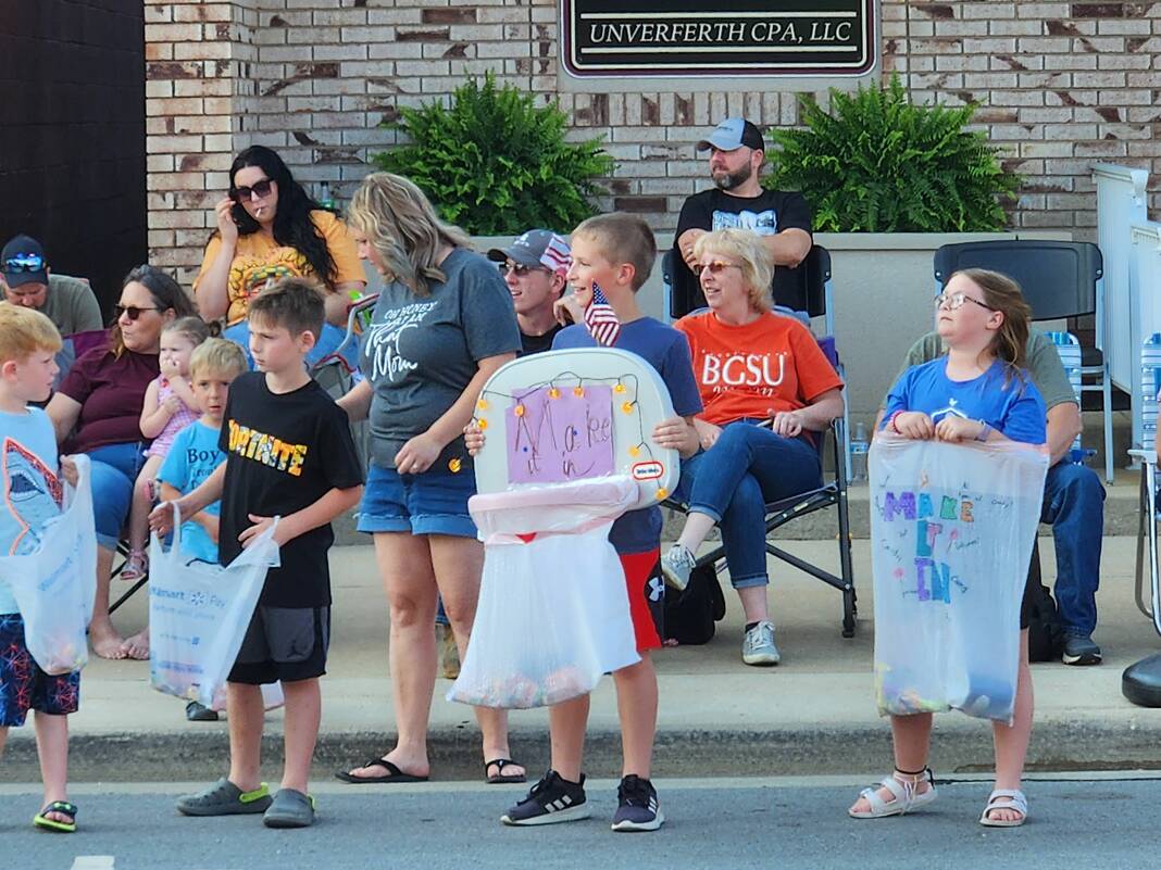
{"label": "blonde wavy hair of the standing woman in grey t-shirt", "polygon": [[432,282],[447,281],[438,261],[442,248],[471,245],[463,230],[439,219],[423,190],[389,172],[362,180],[351,197],[347,223],[378,252],[383,277],[405,284],[416,296],[430,295]]}

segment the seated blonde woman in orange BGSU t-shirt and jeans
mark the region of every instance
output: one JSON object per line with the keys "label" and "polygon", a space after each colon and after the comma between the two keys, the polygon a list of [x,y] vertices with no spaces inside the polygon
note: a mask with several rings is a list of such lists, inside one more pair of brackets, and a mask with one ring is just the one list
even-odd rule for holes
{"label": "seated blonde woman in orange BGSU t-shirt and jeans", "polygon": [[810,433],[843,413],[843,382],[798,319],[772,312],[773,263],[748,230],[698,239],[695,271],[706,311],[675,326],[685,333],[705,411],[694,420],[701,451],[682,464],[677,495],[690,506],[682,536],[662,558],[684,588],[693,553],[721,527],[730,582],[745,610],[742,660],[777,665],[766,607],[766,502],[821,485]]}

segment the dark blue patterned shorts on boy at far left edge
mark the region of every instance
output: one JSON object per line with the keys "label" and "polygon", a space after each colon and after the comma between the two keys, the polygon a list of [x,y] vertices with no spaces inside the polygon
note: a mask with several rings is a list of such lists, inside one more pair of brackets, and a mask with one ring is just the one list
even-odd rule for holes
{"label": "dark blue patterned shorts on boy at far left edge", "polygon": [[28,652],[20,614],[0,614],[0,728],[20,727],[29,710],[74,713],[79,701],[80,672],[45,674]]}

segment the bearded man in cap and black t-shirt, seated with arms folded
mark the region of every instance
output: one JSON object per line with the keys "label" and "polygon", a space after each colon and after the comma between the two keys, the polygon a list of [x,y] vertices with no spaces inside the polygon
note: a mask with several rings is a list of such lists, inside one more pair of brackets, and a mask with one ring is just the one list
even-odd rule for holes
{"label": "bearded man in cap and black t-shirt, seated with arms folded", "polygon": [[[763,190],[759,181],[765,161],[765,142],[758,128],[745,118],[727,118],[697,145],[709,152],[709,175],[714,187],[694,194],[682,206],[673,238],[675,313],[684,314],[706,304],[697,276],[693,244],[714,230],[753,230],[774,258],[774,264],[793,269],[809,253],[810,210],[798,193]],[[779,293],[784,269],[776,270],[774,302],[805,307],[800,290],[787,282]]]}

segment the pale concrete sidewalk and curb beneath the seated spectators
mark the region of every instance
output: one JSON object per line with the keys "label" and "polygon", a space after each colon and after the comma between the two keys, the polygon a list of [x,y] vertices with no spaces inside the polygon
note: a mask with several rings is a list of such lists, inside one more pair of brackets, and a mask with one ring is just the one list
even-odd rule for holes
{"label": "pale concrete sidewalk and curb beneath the seated spectators", "polygon": [[[1161,766],[1161,710],[1132,706],[1120,695],[1125,666],[1161,648],[1132,595],[1134,542],[1105,538],[1101,625],[1096,639],[1105,664],[1093,668],[1036,665],[1033,769],[1134,769]],[[792,542],[792,552],[837,571],[835,545]],[[1040,548],[1046,578],[1055,575],[1051,543]],[[661,776],[733,776],[866,773],[890,768],[888,726],[875,713],[870,556],[854,544],[860,619],[857,636],[839,635],[836,592],[772,564],[770,600],[783,664],[757,669],[741,664],[742,614],[727,590],[729,612],[706,646],[656,655],[661,712],[656,773]],[[323,733],[318,775],[388,749],[392,735],[387,676],[387,606],[368,546],[336,548],[333,640],[323,682]],[[138,595],[116,615],[122,630],[144,616]],[[432,774],[440,780],[481,776],[478,731],[471,711],[444,699],[439,680],[432,710]],[[513,755],[540,773],[548,764],[543,710],[511,717]],[[147,665],[93,660],[84,672],[81,709],[72,718],[72,778],[78,781],[196,780],[221,775],[225,723],[187,723],[183,702],[147,683]],[[281,713],[271,716],[268,775],[276,778]],[[586,770],[616,774],[620,757],[616,704],[605,680],[593,695]],[[7,780],[37,778],[31,727],[9,738]],[[990,728],[958,713],[937,718],[932,766],[975,771],[991,764]]]}

